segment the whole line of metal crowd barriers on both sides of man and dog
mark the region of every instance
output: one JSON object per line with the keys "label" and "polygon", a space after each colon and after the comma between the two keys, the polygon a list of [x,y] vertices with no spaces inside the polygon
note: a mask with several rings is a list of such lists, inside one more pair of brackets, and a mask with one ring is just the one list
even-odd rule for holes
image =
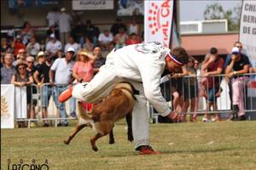
{"label": "whole line of metal crowd barriers on both sides of man and dog", "polygon": [[[241,76],[242,85],[240,94],[243,94],[244,109],[245,112],[256,112],[256,108],[253,106],[256,104],[256,90],[254,88],[249,88],[251,80],[255,81],[256,74],[245,74]],[[211,81],[212,78],[212,81]],[[182,98],[180,101],[183,104],[179,108],[178,113],[180,115],[202,115],[202,114],[230,114],[232,112],[232,96],[234,90],[231,88],[234,79],[230,82],[226,81],[225,75],[217,75],[211,77],[183,77],[180,79],[168,79],[166,82],[162,82],[161,92],[166,98],[172,110],[177,110],[176,100],[173,97],[177,97],[175,93],[180,94]],[[28,122],[27,127],[30,128],[30,122],[55,122],[55,127],[57,127],[58,122],[67,122],[68,120],[73,120],[71,116],[67,116],[67,109],[76,111],[75,99],[69,100],[69,107],[65,104],[60,104],[57,97],[63,90],[68,87],[67,84],[57,84],[54,87],[49,85],[49,83],[44,83],[40,88],[37,85],[32,84],[32,86],[27,87],[27,93],[29,95],[28,103],[35,108],[34,117],[18,116],[19,112],[15,113],[15,122]],[[214,89],[214,90],[212,90]],[[19,87],[17,87],[19,90]],[[23,89],[24,90],[24,89]],[[21,88],[20,88],[21,91]],[[214,94],[214,95],[212,95]],[[216,95],[218,94],[218,95]],[[212,95],[212,96],[211,96]],[[254,96],[254,97],[253,97]],[[31,99],[29,99],[31,98]],[[212,106],[217,105],[218,109],[207,108],[209,98],[212,98]],[[191,101],[194,99],[194,107],[191,105]],[[18,99],[16,105],[20,105],[22,108],[24,105],[21,102],[22,99]],[[190,100],[190,101],[189,101]],[[188,101],[190,102],[188,105]],[[67,103],[67,102],[66,102]],[[192,107],[191,107],[192,106]],[[194,109],[193,109],[194,108]],[[30,110],[30,116],[32,116],[32,110]],[[45,114],[44,112],[49,114]],[[71,111],[69,111],[70,113]],[[157,122],[159,114],[154,110],[154,107],[148,103],[149,116]],[[24,114],[23,114],[24,115]],[[247,117],[250,120],[250,116]]]}

